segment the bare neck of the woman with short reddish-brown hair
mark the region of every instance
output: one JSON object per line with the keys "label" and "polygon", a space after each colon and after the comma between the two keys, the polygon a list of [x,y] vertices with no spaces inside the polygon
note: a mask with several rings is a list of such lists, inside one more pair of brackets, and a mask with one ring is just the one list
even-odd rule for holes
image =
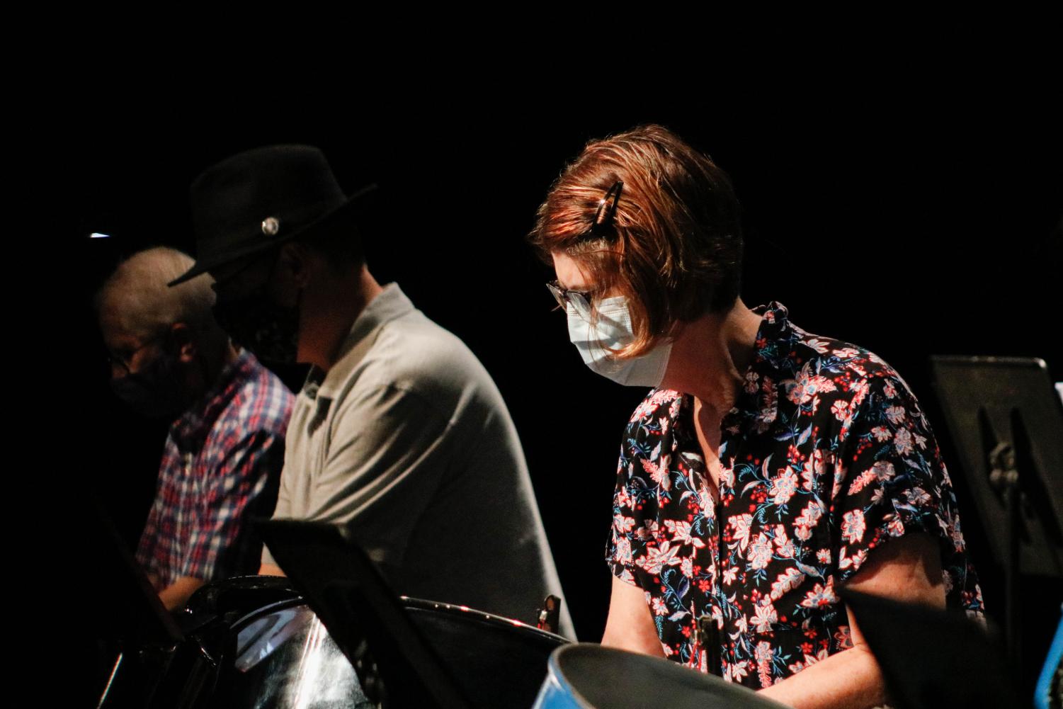
{"label": "bare neck of the woman with short reddish-brown hair", "polygon": [[741,299],[686,323],[672,344],[663,387],[692,394],[713,417],[733,407],[753,361],[761,317]]}

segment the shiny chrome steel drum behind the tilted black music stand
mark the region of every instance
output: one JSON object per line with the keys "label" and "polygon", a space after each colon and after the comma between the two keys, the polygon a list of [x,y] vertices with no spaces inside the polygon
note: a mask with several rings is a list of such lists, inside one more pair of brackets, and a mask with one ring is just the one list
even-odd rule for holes
{"label": "shiny chrome steel drum behind the tilted black music stand", "polygon": [[[229,579],[204,587],[202,594],[188,608],[198,618],[187,634],[197,659],[172,706],[403,709],[387,700],[371,647],[364,642],[352,666],[286,579]],[[568,642],[466,607],[406,597],[402,603],[474,707],[529,707],[551,653]]]}

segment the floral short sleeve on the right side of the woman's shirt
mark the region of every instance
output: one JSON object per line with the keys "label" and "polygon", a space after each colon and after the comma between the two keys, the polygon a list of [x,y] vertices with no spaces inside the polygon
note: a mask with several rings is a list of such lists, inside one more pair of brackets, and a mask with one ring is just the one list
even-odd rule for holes
{"label": "floral short sleeve on the right side of the woman's shirt", "polygon": [[948,574],[963,538],[929,423],[892,371],[858,383],[854,391],[847,406],[836,409],[843,420],[831,503],[839,580],[851,577],[872,550],[918,531],[939,540]]}

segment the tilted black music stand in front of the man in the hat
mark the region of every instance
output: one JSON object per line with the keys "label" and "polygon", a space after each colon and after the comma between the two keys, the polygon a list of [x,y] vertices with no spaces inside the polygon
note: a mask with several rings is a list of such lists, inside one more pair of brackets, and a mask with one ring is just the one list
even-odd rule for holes
{"label": "tilted black music stand in front of the man in the hat", "polygon": [[257,523],[263,541],[351,664],[365,638],[398,707],[471,709],[435,649],[347,529],[322,522]]}

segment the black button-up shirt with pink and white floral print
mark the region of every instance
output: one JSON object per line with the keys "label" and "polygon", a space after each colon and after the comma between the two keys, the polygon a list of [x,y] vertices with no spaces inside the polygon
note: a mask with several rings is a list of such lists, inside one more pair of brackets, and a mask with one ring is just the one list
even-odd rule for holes
{"label": "black button-up shirt with pink and white floral print", "polygon": [[624,434],[607,560],[646,595],[665,656],[753,689],[851,645],[838,588],[924,531],[950,607],[982,615],[948,472],[900,376],[761,306],[756,354],[721,422],[719,504],[693,401],[651,391]]}

